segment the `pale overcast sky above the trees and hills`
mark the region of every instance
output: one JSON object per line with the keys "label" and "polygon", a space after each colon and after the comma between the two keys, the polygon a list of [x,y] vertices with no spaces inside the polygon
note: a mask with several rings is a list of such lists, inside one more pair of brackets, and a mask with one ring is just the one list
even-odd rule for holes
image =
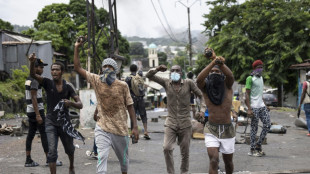
{"label": "pale overcast sky above the trees and hills", "polygon": [[[0,18],[11,24],[32,26],[33,20],[44,6],[68,2],[69,0],[0,0]],[[181,0],[181,2],[185,6],[193,4],[190,8],[191,30],[203,31],[202,16],[209,12],[205,0]],[[95,0],[95,4],[97,7],[107,9],[108,0]],[[122,34],[142,37],[167,35],[153,4],[169,33],[187,31],[187,8],[177,0],[117,0],[118,28]]]}

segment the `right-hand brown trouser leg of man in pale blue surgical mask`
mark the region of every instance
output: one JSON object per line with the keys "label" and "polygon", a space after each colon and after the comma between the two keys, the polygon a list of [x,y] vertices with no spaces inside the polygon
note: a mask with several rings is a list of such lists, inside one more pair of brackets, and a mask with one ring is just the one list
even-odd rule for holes
{"label": "right-hand brown trouser leg of man in pale blue surgical mask", "polygon": [[189,146],[192,135],[192,127],[178,131],[178,144],[181,149],[181,174],[187,174],[189,168]]}

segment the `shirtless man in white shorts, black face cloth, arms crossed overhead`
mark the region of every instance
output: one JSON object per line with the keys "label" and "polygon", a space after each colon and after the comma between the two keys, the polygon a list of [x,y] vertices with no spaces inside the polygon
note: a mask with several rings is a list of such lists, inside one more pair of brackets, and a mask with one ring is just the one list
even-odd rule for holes
{"label": "shirtless man in white shorts, black face cloth, arms crossed overhead", "polygon": [[[197,85],[203,92],[208,107],[208,122],[205,125],[205,145],[210,163],[209,173],[218,172],[219,152],[222,153],[226,173],[234,171],[235,129],[231,123],[231,105],[234,76],[225,65],[223,57],[217,57],[212,49],[212,62],[197,77]],[[199,115],[197,120],[201,120]]]}

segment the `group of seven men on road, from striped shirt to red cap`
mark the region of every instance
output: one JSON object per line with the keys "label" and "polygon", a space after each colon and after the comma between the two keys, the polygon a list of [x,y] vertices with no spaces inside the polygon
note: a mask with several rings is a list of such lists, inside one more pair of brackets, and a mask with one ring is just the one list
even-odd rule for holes
{"label": "group of seven men on road, from striped shirt to red cap", "polygon": [[[143,103],[144,91],[139,87],[133,89],[138,83],[136,79],[137,66],[130,67],[131,75],[126,82],[118,80],[116,73],[119,69],[117,63],[106,58],[102,62],[102,74],[94,74],[86,71],[80,65],[79,48],[82,42],[76,41],[74,48],[74,69],[89,82],[97,97],[97,114],[95,127],[95,142],[98,149],[97,173],[107,173],[107,160],[110,147],[113,148],[121,166],[121,172],[127,173],[129,165],[128,157],[128,126],[127,111],[131,119],[131,136],[135,142],[139,139],[139,131],[135,111],[138,111],[144,126],[144,138],[149,140],[147,131],[147,116]],[[209,48],[206,49],[206,51]],[[157,76],[157,72],[167,70],[165,65],[150,69],[146,77],[160,84],[167,93],[168,117],[165,121],[163,152],[167,167],[167,173],[174,174],[173,150],[177,144],[181,151],[180,172],[187,174],[189,171],[189,147],[192,135],[191,124],[191,98],[193,94],[199,98],[200,110],[194,114],[194,118],[205,123],[205,111],[208,108],[209,118],[205,123],[205,146],[210,159],[209,173],[217,173],[219,152],[223,154],[226,173],[234,170],[233,153],[235,151],[235,129],[231,121],[231,106],[233,99],[232,85],[234,77],[231,70],[225,65],[225,59],[216,56],[212,50],[211,63],[207,65],[197,76],[197,84],[191,79],[182,79],[182,69],[174,65],[170,69],[170,78]],[[62,79],[64,67],[55,62],[51,66],[52,79],[42,77],[43,67],[46,66],[35,54],[29,57],[30,78],[26,81],[27,113],[29,111],[30,130],[27,137],[25,166],[37,166],[30,157],[31,141],[38,128],[41,133],[42,145],[47,154],[51,173],[56,173],[57,145],[60,137],[65,152],[70,160],[69,173],[74,173],[74,146],[73,138],[63,131],[57,121],[54,108],[58,102],[63,101],[66,110],[69,107],[81,109],[83,107],[80,98],[75,93],[72,85]],[[247,78],[246,105],[251,123],[251,149],[249,155],[262,156],[261,143],[270,128],[269,112],[262,101],[262,66],[261,61],[253,63],[253,73]],[[44,115],[42,103],[43,87],[47,94],[47,114]],[[69,100],[72,98],[74,101]],[[256,142],[257,124],[261,119],[264,129]],[[45,127],[44,127],[45,124]]]}

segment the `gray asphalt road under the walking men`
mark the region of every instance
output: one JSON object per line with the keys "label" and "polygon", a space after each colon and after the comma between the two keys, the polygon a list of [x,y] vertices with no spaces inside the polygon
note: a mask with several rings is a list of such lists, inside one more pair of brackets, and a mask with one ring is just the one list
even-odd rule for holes
{"label": "gray asphalt road under the walking men", "polygon": [[[151,122],[151,118],[165,115],[165,112],[148,112],[148,126],[151,140],[140,138],[138,144],[130,144],[130,165],[128,173],[134,174],[162,174],[166,173],[163,155],[163,130],[164,120]],[[271,121],[287,127],[286,134],[268,134],[267,145],[263,146],[265,157],[250,157],[247,155],[250,147],[247,144],[236,144],[234,154],[235,173],[310,173],[310,137],[306,136],[306,129],[297,128],[294,125],[294,112],[281,112],[272,110]],[[304,117],[304,113],[302,113]],[[19,120],[0,120],[0,123],[18,124]],[[140,127],[142,123],[139,122]],[[238,127],[238,132],[244,131],[244,126]],[[260,132],[261,129],[259,129]],[[77,174],[96,173],[96,160],[87,157],[86,150],[91,150],[93,145],[94,130],[79,129],[86,137],[86,144],[74,141],[78,145],[75,151],[75,171]],[[249,131],[249,128],[248,128]],[[240,139],[240,134],[237,134]],[[0,174],[44,174],[49,173],[45,164],[45,155],[40,139],[35,137],[32,145],[32,158],[40,164],[38,167],[26,168],[25,163],[25,141],[26,135],[21,137],[0,136]],[[62,144],[58,148],[59,160],[63,166],[57,167],[57,173],[68,173],[69,160]],[[175,146],[174,159],[176,173],[180,173],[180,150]],[[190,147],[190,172],[207,173],[209,159],[203,140],[191,141]],[[220,160],[220,170],[224,171],[223,160]],[[121,173],[119,162],[114,151],[110,150],[108,160],[108,173]]]}

